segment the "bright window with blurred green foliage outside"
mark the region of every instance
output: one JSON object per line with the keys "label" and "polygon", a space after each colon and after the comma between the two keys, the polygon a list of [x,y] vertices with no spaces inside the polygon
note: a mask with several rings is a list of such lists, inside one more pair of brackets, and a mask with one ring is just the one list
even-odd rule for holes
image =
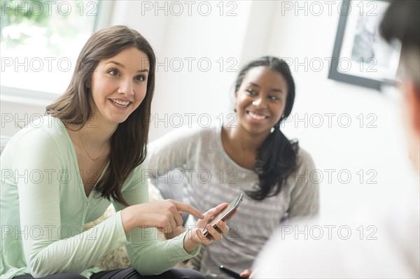
{"label": "bright window with blurred green foliage outside", "polygon": [[62,94],[106,2],[1,1],[1,94]]}

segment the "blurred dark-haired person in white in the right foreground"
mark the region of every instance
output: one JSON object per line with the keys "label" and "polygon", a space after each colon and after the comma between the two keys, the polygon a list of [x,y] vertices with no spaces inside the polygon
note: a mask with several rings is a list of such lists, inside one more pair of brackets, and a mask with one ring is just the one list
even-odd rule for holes
{"label": "blurred dark-haired person in white in the right foreground", "polygon": [[[400,91],[402,113],[407,131],[409,156],[420,172],[420,1],[394,1],[381,22],[386,41],[402,43]],[[390,162],[392,164],[392,162]],[[397,173],[395,173],[396,175]],[[404,192],[395,185],[395,194]],[[372,201],[375,208],[351,218],[280,227],[267,242],[253,269],[252,278],[419,278],[419,184],[411,196],[394,197],[391,203]],[[379,193],[380,195],[380,193]],[[384,203],[380,206],[379,203]],[[365,222],[371,220],[371,223]],[[372,224],[352,227],[354,224]],[[329,224],[327,227],[326,224]],[[346,225],[353,236],[337,228]],[[334,227],[335,226],[335,227]],[[321,230],[322,229],[322,230]],[[330,229],[330,231],[328,231]],[[335,229],[335,231],[334,231]],[[301,231],[293,234],[290,231]],[[321,236],[320,232],[324,235]],[[329,235],[325,235],[328,232]],[[331,232],[331,234],[330,234]],[[360,234],[364,232],[365,234]],[[367,235],[370,234],[370,237]],[[356,235],[355,235],[356,234]],[[321,237],[320,237],[321,236]],[[306,238],[306,239],[305,239]]]}

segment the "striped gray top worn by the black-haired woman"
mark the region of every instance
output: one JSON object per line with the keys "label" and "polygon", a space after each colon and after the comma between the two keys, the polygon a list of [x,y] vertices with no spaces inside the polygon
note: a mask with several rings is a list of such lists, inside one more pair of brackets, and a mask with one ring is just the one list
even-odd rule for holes
{"label": "striped gray top worn by the black-haired woman", "polygon": [[[262,201],[245,196],[229,222],[223,241],[202,253],[200,271],[226,277],[218,266],[241,272],[251,268],[256,255],[280,222],[318,212],[318,178],[311,156],[300,148],[297,171],[280,194]],[[236,164],[225,152],[221,127],[182,127],[153,141],[148,147],[146,171],[154,185],[183,189],[183,201],[203,213],[241,192],[258,189],[258,175]],[[164,178],[165,177],[165,178]],[[179,192],[177,193],[180,194]]]}

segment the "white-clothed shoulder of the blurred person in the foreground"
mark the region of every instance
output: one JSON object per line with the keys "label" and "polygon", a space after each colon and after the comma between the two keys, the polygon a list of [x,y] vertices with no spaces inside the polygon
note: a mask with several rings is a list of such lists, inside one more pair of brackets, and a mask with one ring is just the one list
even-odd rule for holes
{"label": "white-clothed shoulder of the blurred person in the foreground", "polygon": [[253,278],[419,278],[419,189],[351,215],[279,227]]}

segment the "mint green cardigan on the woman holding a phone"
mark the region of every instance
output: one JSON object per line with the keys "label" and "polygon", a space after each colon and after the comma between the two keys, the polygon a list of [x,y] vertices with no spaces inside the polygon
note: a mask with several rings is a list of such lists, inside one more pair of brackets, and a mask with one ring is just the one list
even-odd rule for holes
{"label": "mint green cardigan on the woman holding a phone", "polygon": [[[102,173],[103,174],[103,173]],[[138,166],[122,194],[133,205],[149,201],[147,179]],[[25,273],[34,277],[99,272],[92,264],[125,245],[132,266],[141,275],[160,274],[197,255],[183,249],[184,234],[158,241],[155,228],[124,233],[120,210],[83,232],[83,224],[100,217],[111,203],[93,190],[89,196],[78,171],[76,152],[64,124],[40,118],[10,138],[1,154],[1,278]]]}

